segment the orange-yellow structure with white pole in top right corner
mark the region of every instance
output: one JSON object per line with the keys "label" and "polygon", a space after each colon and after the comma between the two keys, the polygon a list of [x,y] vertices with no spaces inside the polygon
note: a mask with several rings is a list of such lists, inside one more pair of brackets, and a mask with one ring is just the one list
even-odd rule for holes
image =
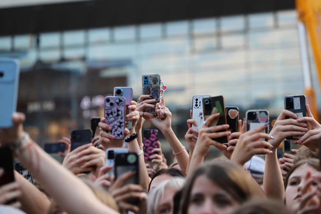
{"label": "orange-yellow structure with white pole in top right corner", "polygon": [[[296,10],[298,13],[299,24],[303,23],[302,26],[305,29],[306,35],[308,35],[310,40],[314,61],[316,64],[319,86],[321,88],[321,0],[296,0]],[[304,38],[305,39],[301,37],[300,42],[308,44],[306,37]],[[304,60],[305,57],[302,56],[303,54],[308,54],[308,52],[306,51],[306,53],[302,53],[301,46],[302,60]],[[304,63],[302,62],[302,64]],[[303,66],[303,72],[306,74],[304,74],[305,78],[309,78],[309,80],[305,81],[305,93],[308,103],[311,106],[312,114],[315,116],[316,120],[319,121],[315,94],[312,84],[309,84],[309,82],[311,83],[311,72],[309,68],[307,70],[308,71],[305,71],[305,68]]]}

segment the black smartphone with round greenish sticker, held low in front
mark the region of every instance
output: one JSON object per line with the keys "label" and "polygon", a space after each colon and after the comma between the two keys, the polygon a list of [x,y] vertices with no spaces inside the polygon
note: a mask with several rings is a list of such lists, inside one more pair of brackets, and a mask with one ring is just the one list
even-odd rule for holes
{"label": "black smartphone with round greenish sticker, held low in front", "polygon": [[[138,155],[135,153],[117,154],[115,157],[115,179],[129,171],[135,171],[136,173],[128,178],[123,185],[139,184]],[[139,200],[130,199],[127,202],[137,205]]]}

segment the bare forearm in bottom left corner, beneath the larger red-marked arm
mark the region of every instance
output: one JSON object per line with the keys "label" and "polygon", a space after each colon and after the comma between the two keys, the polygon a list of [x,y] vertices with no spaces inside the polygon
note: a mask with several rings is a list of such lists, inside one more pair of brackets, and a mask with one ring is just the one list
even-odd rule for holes
{"label": "bare forearm in bottom left corner, beneath the larger red-marked arm", "polygon": [[48,213],[51,202],[47,196],[40,192],[37,187],[32,185],[27,179],[22,177],[22,175],[16,171],[14,171],[14,178],[18,183],[21,184],[21,210],[28,214]]}

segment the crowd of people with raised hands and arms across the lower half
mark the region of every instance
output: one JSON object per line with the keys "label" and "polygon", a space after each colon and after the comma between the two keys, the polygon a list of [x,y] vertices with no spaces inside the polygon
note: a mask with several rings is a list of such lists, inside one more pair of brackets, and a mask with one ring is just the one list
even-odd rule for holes
{"label": "crowd of people with raised hands and arms across the lower half", "polygon": [[[23,129],[25,116],[14,113],[13,127],[0,129],[1,146],[10,145],[14,157],[29,170],[35,184],[14,172],[15,182],[0,187],[0,213],[321,213],[321,124],[313,118],[308,105],[307,117],[298,119],[291,111],[280,112],[269,134],[262,132],[269,124],[246,131],[246,123],[241,120],[234,133],[227,131],[226,124],[208,127],[219,113],[208,117],[199,130],[192,127],[196,121],[187,118],[185,148],[171,128],[172,114],[164,99],[162,105],[153,104],[157,101],[149,95],[131,101],[131,113],[126,115],[131,129],[124,129],[123,139],[106,132],[111,130],[106,118],[100,119],[100,131],[92,141],[73,151],[70,139],[64,137],[61,142],[67,149],[62,154],[62,164],[30,139]],[[156,114],[145,113],[145,108],[154,108]],[[167,165],[160,143],[151,161],[145,162],[141,150],[146,120],[165,136],[177,162]],[[105,163],[106,150],[124,147],[125,137],[134,133],[138,137],[127,142],[126,147],[138,154],[139,170],[115,179],[106,173],[113,168]],[[230,139],[227,145],[215,141],[222,136]],[[292,142],[301,147],[293,150],[294,155],[285,154],[278,159],[277,148],[291,136],[302,136]],[[204,163],[210,146],[219,149],[223,158]],[[261,154],[266,156],[264,171],[257,176],[247,163]],[[139,184],[127,184],[135,173],[139,174]],[[4,170],[0,169],[0,176],[3,175]],[[138,203],[132,203],[133,199]]]}

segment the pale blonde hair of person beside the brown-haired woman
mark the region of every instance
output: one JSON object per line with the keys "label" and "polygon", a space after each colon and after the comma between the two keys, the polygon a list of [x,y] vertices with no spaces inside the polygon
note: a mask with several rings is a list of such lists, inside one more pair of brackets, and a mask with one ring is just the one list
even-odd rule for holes
{"label": "pale blonde hair of person beside the brown-haired woman", "polygon": [[166,188],[179,190],[185,184],[185,178],[174,177],[172,179],[162,182],[155,189],[150,191],[147,201],[147,212],[148,214],[155,214],[157,211],[158,204],[164,196]]}

